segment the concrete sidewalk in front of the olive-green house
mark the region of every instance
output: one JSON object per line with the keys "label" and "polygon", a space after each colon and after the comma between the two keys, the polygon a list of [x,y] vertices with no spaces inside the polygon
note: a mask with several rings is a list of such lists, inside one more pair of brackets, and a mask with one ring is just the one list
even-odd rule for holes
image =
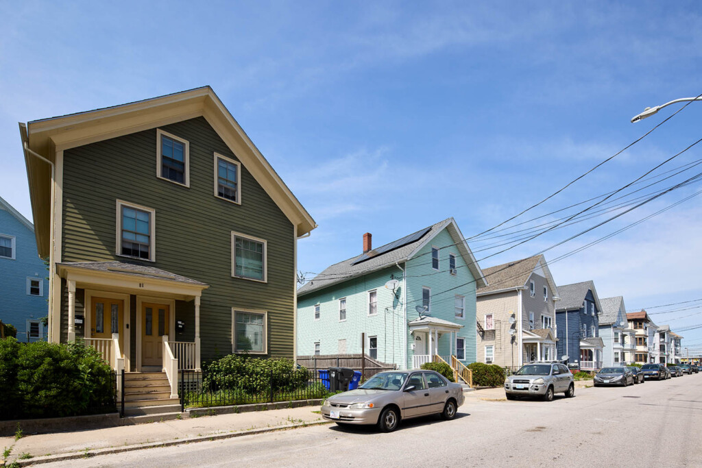
{"label": "concrete sidewalk in front of the olive-green house", "polygon": [[[201,417],[187,417],[184,414],[182,420],[77,432],[25,434],[17,441],[14,437],[1,437],[0,448],[11,450],[11,454],[5,460],[6,464],[16,460],[20,466],[24,466],[164,444],[175,445],[309,424],[326,424],[322,416],[314,411],[319,411],[319,406]],[[0,466],[1,464],[0,461]]]}

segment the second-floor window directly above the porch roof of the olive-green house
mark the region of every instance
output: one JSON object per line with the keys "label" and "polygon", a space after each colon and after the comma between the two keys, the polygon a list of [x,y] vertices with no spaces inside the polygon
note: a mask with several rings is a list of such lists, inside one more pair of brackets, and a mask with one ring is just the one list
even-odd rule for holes
{"label": "second-floor window directly above the porch roof of the olive-green house", "polygon": [[117,255],[156,260],[156,210],[117,200]]}

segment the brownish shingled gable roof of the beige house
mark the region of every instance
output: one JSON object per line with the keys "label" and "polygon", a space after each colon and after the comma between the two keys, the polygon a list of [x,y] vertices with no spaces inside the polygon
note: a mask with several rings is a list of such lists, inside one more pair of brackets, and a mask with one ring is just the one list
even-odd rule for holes
{"label": "brownish shingled gable roof of the beige house", "polygon": [[531,274],[539,267],[541,267],[546,276],[551,294],[558,296],[558,288],[555,281],[553,281],[553,276],[551,276],[548,264],[543,255],[534,255],[534,257],[522,258],[522,260],[515,260],[514,262],[503,263],[502,265],[484,269],[483,272],[489,284],[479,288],[476,294],[487,295],[504,290],[523,288],[527,286],[527,281],[529,281]]}

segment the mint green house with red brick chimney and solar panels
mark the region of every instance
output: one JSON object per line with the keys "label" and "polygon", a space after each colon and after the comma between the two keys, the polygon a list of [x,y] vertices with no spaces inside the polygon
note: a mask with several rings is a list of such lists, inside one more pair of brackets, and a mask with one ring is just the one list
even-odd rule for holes
{"label": "mint green house with red brick chimney and solar panels", "polygon": [[365,354],[397,368],[475,361],[475,290],[486,279],[449,218],[324,269],[298,289],[298,356]]}

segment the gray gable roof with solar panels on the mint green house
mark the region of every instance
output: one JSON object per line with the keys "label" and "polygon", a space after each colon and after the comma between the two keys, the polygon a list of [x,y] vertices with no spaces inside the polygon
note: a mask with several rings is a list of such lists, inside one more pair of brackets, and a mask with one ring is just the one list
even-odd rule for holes
{"label": "gray gable roof with solar panels on the mint green house", "polygon": [[[421,232],[425,232],[425,234],[419,236],[410,243],[399,245],[397,246],[397,248],[385,250],[383,252],[384,248],[390,246],[392,243],[397,242],[393,241],[390,243],[386,243],[384,246],[380,246],[376,249],[373,249],[369,253],[357,255],[355,257],[348,258],[347,260],[343,260],[343,262],[338,262],[334,265],[326,267],[324,271],[317,274],[317,276],[314,276],[312,280],[305,283],[305,285],[298,289],[298,297],[312,293],[313,291],[320,290],[322,288],[332,286],[336,283],[342,283],[343,281],[347,281],[357,276],[362,276],[364,274],[376,272],[379,269],[389,267],[390,265],[395,265],[396,262],[399,263],[409,260],[413,258],[413,256],[416,255],[421,248],[427,245],[427,243],[434,239],[434,237],[437,236],[437,234],[439,234],[439,232],[442,232],[444,229],[447,229],[449,234],[451,234],[451,238],[456,243],[456,247],[458,248],[459,253],[461,253],[461,255],[463,256],[463,259],[468,265],[468,269],[470,269],[473,278],[476,279],[477,286],[480,287],[486,285],[487,281],[485,279],[485,276],[480,267],[478,266],[477,260],[475,260],[475,257],[470,251],[470,248],[468,248],[468,243],[465,242],[465,238],[463,237],[463,234],[461,234],[461,231],[458,229],[456,221],[453,220],[453,218],[448,218],[441,222],[437,222],[435,225],[425,227],[424,229],[420,229],[419,231],[415,232],[414,234],[419,234]],[[413,234],[410,234],[409,236],[405,237],[409,239],[414,239],[411,236],[413,236]],[[376,251],[380,251],[381,253],[378,255],[369,255]],[[368,259],[364,260],[364,258]],[[364,261],[358,262],[358,260]]]}

